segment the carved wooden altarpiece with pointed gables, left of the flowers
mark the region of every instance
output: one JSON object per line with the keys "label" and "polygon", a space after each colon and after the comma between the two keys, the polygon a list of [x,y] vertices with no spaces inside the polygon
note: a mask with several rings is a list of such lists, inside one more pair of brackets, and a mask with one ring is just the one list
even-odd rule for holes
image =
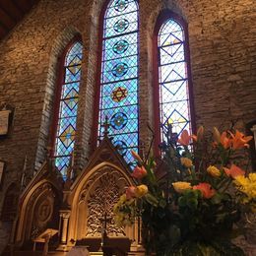
{"label": "carved wooden altarpiece with pointed gables, left of the flowers", "polygon": [[67,177],[63,183],[53,162],[45,161],[20,198],[13,246],[32,250],[35,237],[53,228],[57,231],[47,245],[51,253],[79,255],[82,248],[104,255],[142,252],[139,224],[120,227],[113,216],[113,206],[133,184],[129,167],[107,137],[75,180]]}

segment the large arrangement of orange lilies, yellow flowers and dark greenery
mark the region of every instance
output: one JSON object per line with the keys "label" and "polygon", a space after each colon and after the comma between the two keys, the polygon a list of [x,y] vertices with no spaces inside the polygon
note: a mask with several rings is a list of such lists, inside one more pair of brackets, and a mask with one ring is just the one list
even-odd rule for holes
{"label": "large arrangement of orange lilies, yellow flowers and dark greenery", "polygon": [[115,205],[116,224],[141,218],[147,255],[244,255],[231,239],[243,231],[239,221],[256,212],[256,173],[243,169],[251,139],[201,126],[196,135],[184,130],[180,138],[167,132],[161,167],[132,152],[138,185]]}

